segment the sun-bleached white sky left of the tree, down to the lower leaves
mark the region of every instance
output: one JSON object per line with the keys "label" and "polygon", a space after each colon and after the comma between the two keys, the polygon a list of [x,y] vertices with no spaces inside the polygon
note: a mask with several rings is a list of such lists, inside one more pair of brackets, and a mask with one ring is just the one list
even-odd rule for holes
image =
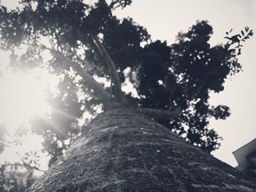
{"label": "sun-bleached white sky left of the tree, down to the lower leaves", "polygon": [[[8,54],[0,52],[0,57],[6,58]],[[3,69],[3,65],[0,64],[0,71],[4,71]],[[42,136],[32,134],[29,131],[26,136],[20,137],[16,136],[15,131],[29,130],[29,120],[35,117],[45,118],[48,116],[51,107],[45,103],[44,91],[49,86],[56,89],[58,80],[58,77],[48,74],[46,69],[34,69],[29,74],[4,71],[4,75],[0,78],[0,124],[4,123],[8,131],[4,137],[8,142],[14,143],[5,147],[4,152],[0,153],[0,164],[5,161],[19,162],[20,157],[26,153],[37,151],[41,154],[39,159],[41,169],[47,169],[48,157],[40,153],[43,149]],[[17,140],[20,141],[21,145],[17,145],[15,142]]]}

